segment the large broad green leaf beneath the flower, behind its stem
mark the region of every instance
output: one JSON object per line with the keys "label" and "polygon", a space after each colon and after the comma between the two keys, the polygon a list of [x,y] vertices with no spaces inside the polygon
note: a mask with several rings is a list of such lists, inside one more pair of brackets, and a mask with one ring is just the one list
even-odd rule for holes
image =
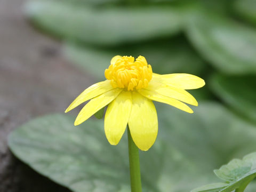
{"label": "large broad green leaf beneath the flower, behind its stem", "polygon": [[[195,114],[165,105],[157,110],[158,138],[140,153],[144,191],[187,192],[216,181],[213,169],[255,150],[255,127],[217,103],[200,103]],[[102,120],[77,127],[73,122],[68,115],[39,117],[15,130],[9,146],[33,169],[73,191],[129,191],[126,135],[111,146]]]}

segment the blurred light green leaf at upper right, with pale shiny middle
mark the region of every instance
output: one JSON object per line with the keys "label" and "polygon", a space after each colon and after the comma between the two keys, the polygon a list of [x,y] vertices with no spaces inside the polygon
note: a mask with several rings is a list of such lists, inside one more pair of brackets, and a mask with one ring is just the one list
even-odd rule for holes
{"label": "blurred light green leaf at upper right, with pale shiny middle", "polygon": [[256,73],[256,30],[197,11],[189,14],[186,34],[198,52],[223,73]]}

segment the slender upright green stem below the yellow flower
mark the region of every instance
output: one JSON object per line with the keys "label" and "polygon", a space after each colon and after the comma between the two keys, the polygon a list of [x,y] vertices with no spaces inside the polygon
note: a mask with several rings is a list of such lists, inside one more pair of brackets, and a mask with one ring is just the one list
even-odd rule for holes
{"label": "slender upright green stem below the yellow flower", "polygon": [[139,149],[132,140],[129,126],[127,132],[130,161],[131,192],[141,192]]}

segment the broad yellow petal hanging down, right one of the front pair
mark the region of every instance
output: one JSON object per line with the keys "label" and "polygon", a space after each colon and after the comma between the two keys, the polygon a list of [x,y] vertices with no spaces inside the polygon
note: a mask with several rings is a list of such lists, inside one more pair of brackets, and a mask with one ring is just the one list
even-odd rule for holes
{"label": "broad yellow petal hanging down, right one of the front pair", "polygon": [[141,150],[148,150],[155,142],[158,122],[154,103],[132,92],[132,111],[128,121],[132,139]]}

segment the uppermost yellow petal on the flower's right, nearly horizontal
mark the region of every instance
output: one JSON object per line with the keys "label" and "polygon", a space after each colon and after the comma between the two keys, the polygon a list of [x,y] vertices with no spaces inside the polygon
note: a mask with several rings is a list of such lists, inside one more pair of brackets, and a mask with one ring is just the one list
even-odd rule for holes
{"label": "uppermost yellow petal on the flower's right, nearly horizontal", "polygon": [[157,81],[164,83],[165,85],[171,85],[179,89],[198,89],[205,85],[204,79],[190,74],[166,74],[153,76],[151,81]]}

